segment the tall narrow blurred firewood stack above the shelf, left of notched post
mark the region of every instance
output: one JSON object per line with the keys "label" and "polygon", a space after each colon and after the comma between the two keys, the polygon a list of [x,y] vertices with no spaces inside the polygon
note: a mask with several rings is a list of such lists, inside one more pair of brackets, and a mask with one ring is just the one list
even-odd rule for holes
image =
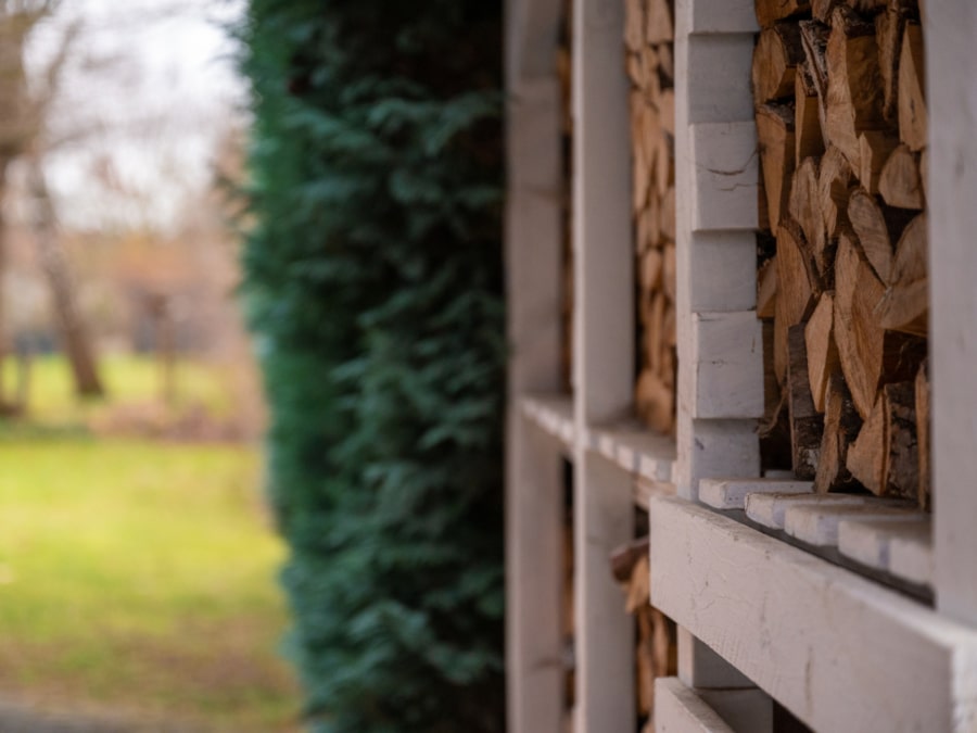
{"label": "tall narrow blurred firewood stack above the shelf, left of notched post", "polygon": [[673,0],[626,0],[631,79],[635,271],[640,371],[638,416],[660,432],[675,426],[675,90]]}

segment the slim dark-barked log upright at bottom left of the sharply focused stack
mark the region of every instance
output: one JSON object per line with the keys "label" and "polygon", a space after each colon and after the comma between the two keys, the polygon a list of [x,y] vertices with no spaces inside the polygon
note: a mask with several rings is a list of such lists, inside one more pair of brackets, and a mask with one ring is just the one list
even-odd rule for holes
{"label": "slim dark-barked log upright at bottom left of the sharply focused stack", "polygon": [[790,418],[790,452],[794,475],[813,479],[817,472],[824,418],[814,408],[808,376],[804,326],[791,326],[787,333],[787,409]]}

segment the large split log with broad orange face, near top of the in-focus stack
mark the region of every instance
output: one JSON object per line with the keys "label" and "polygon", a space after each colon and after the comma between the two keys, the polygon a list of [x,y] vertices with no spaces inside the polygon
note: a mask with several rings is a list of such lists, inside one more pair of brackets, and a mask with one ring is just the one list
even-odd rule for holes
{"label": "large split log with broad orange face, near top of the in-focus stack", "polygon": [[886,127],[875,25],[847,5],[835,8],[826,60],[825,138],[860,170],[859,135]]}

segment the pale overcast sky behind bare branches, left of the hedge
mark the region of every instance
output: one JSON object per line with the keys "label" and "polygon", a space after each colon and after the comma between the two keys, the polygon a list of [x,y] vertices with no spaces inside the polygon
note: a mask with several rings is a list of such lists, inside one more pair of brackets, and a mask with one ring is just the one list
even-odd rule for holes
{"label": "pale overcast sky behind bare branches, left of the hedge", "polygon": [[242,119],[244,86],[221,28],[240,0],[66,0],[31,38],[39,74],[75,40],[56,93],[47,169],[66,224],[165,226],[208,180]]}

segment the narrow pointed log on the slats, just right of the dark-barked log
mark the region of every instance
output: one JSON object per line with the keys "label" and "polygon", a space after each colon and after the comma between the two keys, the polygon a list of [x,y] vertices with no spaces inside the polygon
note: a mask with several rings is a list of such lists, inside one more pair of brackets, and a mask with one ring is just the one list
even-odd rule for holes
{"label": "narrow pointed log on the slats, just right of the dark-barked log", "polygon": [[824,438],[817,472],[814,476],[814,491],[827,493],[843,491],[857,485],[848,470],[848,447],[862,428],[862,418],[851,400],[851,392],[845,383],[840,369],[828,377],[824,400]]}

